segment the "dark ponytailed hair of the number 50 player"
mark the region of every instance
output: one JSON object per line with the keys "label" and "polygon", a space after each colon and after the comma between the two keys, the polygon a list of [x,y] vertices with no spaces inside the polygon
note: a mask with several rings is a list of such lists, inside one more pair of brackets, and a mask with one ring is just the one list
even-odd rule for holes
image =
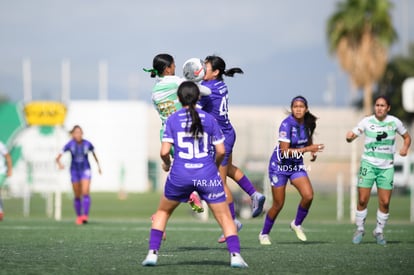
{"label": "dark ponytailed hair of the number 50 player", "polygon": [[197,84],[192,81],[184,81],[180,84],[177,90],[178,99],[183,107],[188,107],[187,114],[187,129],[188,122],[191,117],[190,133],[194,138],[198,138],[200,134],[203,134],[203,124],[201,124],[200,116],[198,115],[196,108],[197,101],[200,97],[200,89]]}

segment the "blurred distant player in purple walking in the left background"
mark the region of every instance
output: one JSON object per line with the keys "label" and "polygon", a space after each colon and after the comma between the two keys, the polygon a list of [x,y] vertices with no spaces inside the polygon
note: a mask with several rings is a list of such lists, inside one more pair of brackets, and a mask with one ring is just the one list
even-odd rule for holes
{"label": "blurred distant player in purple walking in the left background", "polygon": [[70,164],[70,176],[72,181],[73,206],[76,212],[76,224],[84,224],[88,222],[89,208],[91,205],[91,198],[89,189],[91,184],[91,166],[88,160],[88,153],[92,155],[98,165],[99,174],[102,173],[98,158],[95,154],[92,143],[83,139],[83,131],[79,125],[75,125],[70,131],[72,139],[63,147],[61,153],[56,157],[56,162],[59,169],[64,169],[60,161],[64,152],[69,151],[72,156]]}

